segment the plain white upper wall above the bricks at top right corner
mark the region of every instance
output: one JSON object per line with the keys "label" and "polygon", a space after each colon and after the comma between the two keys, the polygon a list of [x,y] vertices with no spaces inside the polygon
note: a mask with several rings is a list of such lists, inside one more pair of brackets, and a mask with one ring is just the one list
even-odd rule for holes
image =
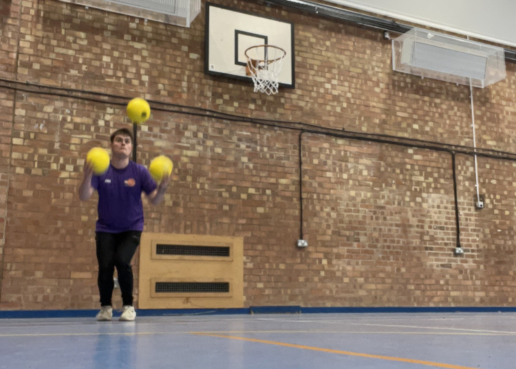
{"label": "plain white upper wall above the bricks at top right corner", "polygon": [[516,0],[327,0],[516,47]]}

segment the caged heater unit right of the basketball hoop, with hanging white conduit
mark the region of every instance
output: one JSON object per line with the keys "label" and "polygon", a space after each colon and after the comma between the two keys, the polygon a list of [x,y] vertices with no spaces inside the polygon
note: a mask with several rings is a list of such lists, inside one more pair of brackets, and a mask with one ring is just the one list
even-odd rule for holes
{"label": "caged heater unit right of the basketball hoop, with hanging white conduit", "polygon": [[392,69],[482,88],[506,77],[501,47],[420,28],[392,40]]}

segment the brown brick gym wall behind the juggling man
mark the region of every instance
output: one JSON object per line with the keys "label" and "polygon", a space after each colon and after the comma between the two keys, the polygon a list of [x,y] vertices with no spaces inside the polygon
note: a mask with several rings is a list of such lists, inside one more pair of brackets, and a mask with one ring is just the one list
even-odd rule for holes
{"label": "brown brick gym wall behind the juggling man", "polygon": [[[455,155],[455,256],[451,153],[371,134],[471,151],[469,87],[392,71],[382,32],[217,3],[294,23],[296,89],[205,75],[204,2],[184,28],[0,0],[0,309],[98,306],[96,195],[81,203],[76,188],[87,150],[130,128],[135,96],[153,107],[138,161],[175,163],[146,230],[244,236],[246,306],[512,305],[516,65],[474,90],[477,146],[499,153],[477,158],[483,210],[473,157]],[[307,124],[320,132],[301,135]]]}

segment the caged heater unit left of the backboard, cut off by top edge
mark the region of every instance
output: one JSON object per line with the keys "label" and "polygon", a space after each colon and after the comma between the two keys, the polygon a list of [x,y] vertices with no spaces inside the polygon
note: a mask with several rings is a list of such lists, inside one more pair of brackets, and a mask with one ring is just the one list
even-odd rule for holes
{"label": "caged heater unit left of the backboard, cut off by top edge", "polygon": [[201,12],[201,0],[61,0],[162,23],[190,27]]}

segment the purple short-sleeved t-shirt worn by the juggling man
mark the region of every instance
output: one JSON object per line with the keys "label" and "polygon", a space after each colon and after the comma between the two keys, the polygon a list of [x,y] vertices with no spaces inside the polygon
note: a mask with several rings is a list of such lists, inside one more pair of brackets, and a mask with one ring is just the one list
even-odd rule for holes
{"label": "purple short-sleeved t-shirt worn by the juggling man", "polygon": [[123,169],[109,164],[105,174],[92,177],[92,187],[98,192],[96,232],[143,230],[142,192],[158,187],[147,168],[134,161]]}

